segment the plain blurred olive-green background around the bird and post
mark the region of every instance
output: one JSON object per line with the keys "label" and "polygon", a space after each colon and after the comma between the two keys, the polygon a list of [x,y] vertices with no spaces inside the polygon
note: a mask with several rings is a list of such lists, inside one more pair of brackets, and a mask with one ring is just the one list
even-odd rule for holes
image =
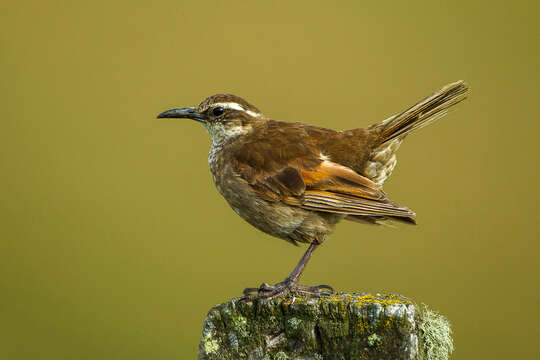
{"label": "plain blurred olive-green background around the bird and post", "polygon": [[1,5],[0,358],[193,359],[211,306],[300,258],[219,196],[205,130],[159,112],[231,92],[347,129],[458,79],[385,185],[419,225],[342,223],[303,280],[429,304],[454,359],[538,356],[532,3]]}

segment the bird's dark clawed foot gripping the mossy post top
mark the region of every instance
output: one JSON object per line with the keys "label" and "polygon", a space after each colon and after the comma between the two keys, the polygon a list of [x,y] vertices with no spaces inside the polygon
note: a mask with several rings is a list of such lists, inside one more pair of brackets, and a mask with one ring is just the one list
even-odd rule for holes
{"label": "bird's dark clawed foot gripping the mossy post top", "polygon": [[320,297],[330,295],[333,292],[334,289],[329,285],[305,286],[298,284],[296,281],[285,279],[275,285],[262,283],[258,288],[246,288],[242,299],[274,299],[288,294]]}

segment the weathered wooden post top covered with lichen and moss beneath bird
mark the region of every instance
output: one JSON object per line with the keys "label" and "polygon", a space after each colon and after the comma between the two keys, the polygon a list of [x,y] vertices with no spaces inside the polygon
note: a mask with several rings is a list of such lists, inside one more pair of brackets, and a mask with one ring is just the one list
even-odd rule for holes
{"label": "weathered wooden post top covered with lichen and moss beneath bird", "polygon": [[448,359],[446,319],[398,295],[233,299],[204,321],[199,359]]}

